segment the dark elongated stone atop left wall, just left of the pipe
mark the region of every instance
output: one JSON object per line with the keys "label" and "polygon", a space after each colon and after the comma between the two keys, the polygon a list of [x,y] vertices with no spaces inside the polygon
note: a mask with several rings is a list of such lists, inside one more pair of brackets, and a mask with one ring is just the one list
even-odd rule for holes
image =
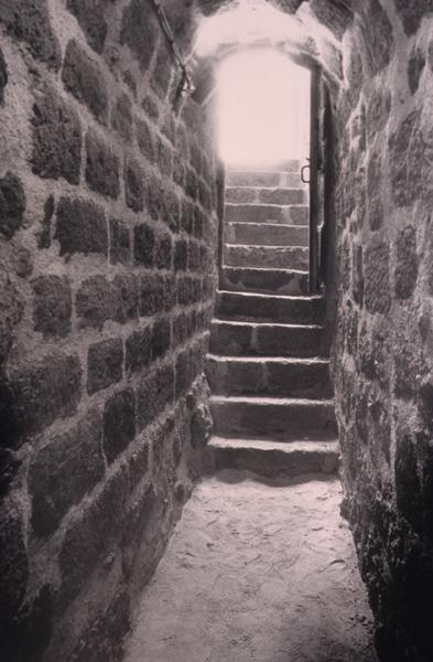
{"label": "dark elongated stone atop left wall, just left of the pipe", "polygon": [[153,9],[145,0],[131,0],[123,11],[120,41],[131,49],[142,70],[149,67],[158,33]]}

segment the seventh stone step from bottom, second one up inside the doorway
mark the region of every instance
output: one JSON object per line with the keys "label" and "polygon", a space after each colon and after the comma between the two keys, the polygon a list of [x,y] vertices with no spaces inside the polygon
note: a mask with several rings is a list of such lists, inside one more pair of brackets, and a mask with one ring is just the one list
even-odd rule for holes
{"label": "seventh stone step from bottom, second one up inside the doorway", "polygon": [[229,267],[268,267],[303,271],[308,266],[308,248],[305,246],[226,244],[224,264]]}

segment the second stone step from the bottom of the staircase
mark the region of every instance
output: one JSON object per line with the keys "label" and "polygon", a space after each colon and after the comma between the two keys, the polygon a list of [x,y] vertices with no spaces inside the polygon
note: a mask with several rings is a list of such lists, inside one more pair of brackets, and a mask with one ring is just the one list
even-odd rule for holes
{"label": "second stone step from the bottom of the staircase", "polygon": [[214,434],[223,437],[334,439],[334,402],[213,395]]}

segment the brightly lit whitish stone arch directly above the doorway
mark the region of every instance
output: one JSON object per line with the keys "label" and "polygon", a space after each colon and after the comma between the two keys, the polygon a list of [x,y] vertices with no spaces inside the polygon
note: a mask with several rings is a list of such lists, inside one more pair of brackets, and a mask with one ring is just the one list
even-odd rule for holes
{"label": "brightly lit whitish stone arch directly above the doorway", "polygon": [[350,0],[196,0],[190,65],[198,81],[236,47],[270,45],[343,77],[342,39],[354,13]]}

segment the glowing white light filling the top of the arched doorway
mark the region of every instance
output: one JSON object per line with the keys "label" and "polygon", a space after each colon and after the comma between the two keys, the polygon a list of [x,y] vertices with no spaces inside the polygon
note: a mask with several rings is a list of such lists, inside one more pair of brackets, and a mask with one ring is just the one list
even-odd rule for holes
{"label": "glowing white light filling the top of the arched doorway", "polygon": [[308,156],[310,72],[272,49],[223,61],[217,72],[219,153],[231,167]]}

